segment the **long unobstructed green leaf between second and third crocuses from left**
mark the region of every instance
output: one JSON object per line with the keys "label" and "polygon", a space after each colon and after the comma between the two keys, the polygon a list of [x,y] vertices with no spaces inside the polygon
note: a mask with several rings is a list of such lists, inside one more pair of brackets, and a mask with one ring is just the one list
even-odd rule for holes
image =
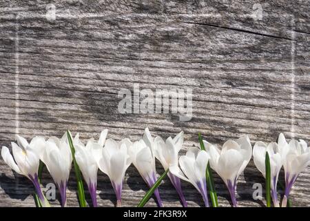
{"label": "long unobstructed green leaf between second and third crocuses from left", "polygon": [[84,193],[82,175],[81,175],[81,171],[79,169],[79,165],[76,163],[76,160],[75,160],[75,156],[74,156],[75,149],[73,146],[72,135],[71,135],[70,131],[67,131],[67,136],[68,136],[68,142],[69,142],[69,146],[70,146],[71,153],[72,153],[74,171],[75,171],[76,182],[77,182],[77,190],[78,190],[78,196],[79,196],[79,204],[80,204],[80,207],[86,207],[86,200],[85,200],[85,193]]}

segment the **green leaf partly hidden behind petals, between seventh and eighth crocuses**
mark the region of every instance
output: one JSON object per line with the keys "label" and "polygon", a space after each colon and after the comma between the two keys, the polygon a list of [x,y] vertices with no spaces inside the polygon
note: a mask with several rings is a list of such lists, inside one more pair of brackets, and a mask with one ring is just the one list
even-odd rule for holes
{"label": "green leaf partly hidden behind petals, between seventh and eighth crocuses", "polygon": [[[205,144],[203,144],[203,138],[201,137],[200,133],[198,133],[198,139],[200,143],[200,148],[205,151]],[[216,194],[216,190],[214,187],[214,180],[209,162],[207,164],[207,170],[205,171],[205,177],[207,178],[207,188],[209,189],[212,206],[218,207],[218,195]]]}

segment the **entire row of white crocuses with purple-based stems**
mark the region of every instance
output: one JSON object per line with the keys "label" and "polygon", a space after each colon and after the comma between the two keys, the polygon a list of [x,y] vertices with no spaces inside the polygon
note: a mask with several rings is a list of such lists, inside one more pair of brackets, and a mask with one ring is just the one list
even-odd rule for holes
{"label": "entire row of white crocuses with purple-based stems", "polygon": [[[238,140],[227,140],[222,148],[203,141],[206,151],[191,147],[186,155],[178,157],[183,146],[183,131],[176,137],[152,137],[148,128],[141,140],[132,143],[129,139],[116,142],[107,139],[107,130],[101,132],[99,140],[90,139],[84,145],[79,134],[74,137],[74,157],[87,183],[92,203],[96,202],[96,183],[98,169],[110,177],[116,193],[117,206],[121,206],[121,192],[125,172],[130,164],[134,164],[147,186],[151,187],[157,180],[155,159],[161,162],[168,177],[175,187],[183,206],[187,202],[181,189],[180,179],[192,183],[203,196],[205,206],[209,206],[207,198],[206,169],[209,162],[211,169],[223,179],[231,195],[231,202],[237,206],[236,184],[238,177],[245,170],[252,157],[249,137]],[[269,153],[271,166],[271,197],[273,204],[279,206],[277,196],[278,175],[282,166],[285,171],[285,195],[282,206],[286,206],[289,192],[298,175],[310,164],[310,148],[304,140],[291,140],[287,143],[280,133],[278,142],[265,144],[256,142],[253,148],[254,164],[265,177],[265,155]],[[41,192],[38,169],[41,160],[47,167],[54,182],[59,188],[61,204],[65,206],[66,190],[72,166],[72,154],[67,135],[61,139],[50,137],[34,137],[30,143],[17,135],[17,144],[12,142],[12,155],[6,146],[1,149],[3,160],[15,172],[25,175],[34,184],[41,203],[48,202]],[[158,189],[154,192],[158,206],[163,206]]]}

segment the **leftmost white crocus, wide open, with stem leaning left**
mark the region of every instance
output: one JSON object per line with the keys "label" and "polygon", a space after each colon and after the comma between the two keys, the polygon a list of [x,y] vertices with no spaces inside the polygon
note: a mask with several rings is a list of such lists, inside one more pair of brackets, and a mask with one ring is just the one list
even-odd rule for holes
{"label": "leftmost white crocus, wide open, with stem leaning left", "polygon": [[[38,149],[44,148],[45,140],[43,137],[34,137],[30,144],[23,137],[17,135],[17,144],[12,142],[12,153],[9,149],[3,146],[1,149],[1,156],[10,166],[10,168],[21,175],[25,175],[34,184],[39,200],[42,206],[50,206],[44,197],[38,178],[39,169],[39,155]],[[14,158],[13,158],[14,157]]]}

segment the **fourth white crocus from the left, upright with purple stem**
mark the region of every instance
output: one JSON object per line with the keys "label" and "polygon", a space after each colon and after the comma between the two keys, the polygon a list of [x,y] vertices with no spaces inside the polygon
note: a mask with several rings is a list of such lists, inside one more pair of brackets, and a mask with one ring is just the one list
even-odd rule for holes
{"label": "fourth white crocus from the left, upright with purple stem", "polygon": [[123,180],[127,168],[132,164],[128,148],[132,146],[129,139],[116,142],[108,139],[102,149],[102,156],[99,160],[99,169],[110,177],[113,189],[116,193],[116,206],[121,206],[121,194]]}

